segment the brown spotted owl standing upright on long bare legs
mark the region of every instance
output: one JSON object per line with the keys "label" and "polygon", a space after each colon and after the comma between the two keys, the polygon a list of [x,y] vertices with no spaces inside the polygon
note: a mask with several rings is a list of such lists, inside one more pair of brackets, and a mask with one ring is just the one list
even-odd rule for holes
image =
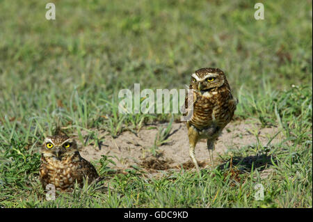
{"label": "brown spotted owl standing upright on long bare legs", "polygon": [[[230,85],[222,70],[202,68],[191,75],[193,89],[193,116],[186,122],[189,138],[189,154],[200,172],[195,159],[195,145],[201,138],[207,139],[207,148],[214,150],[214,143],[223,128],[232,120],[237,101],[232,97]],[[188,108],[188,98],[185,107]]]}

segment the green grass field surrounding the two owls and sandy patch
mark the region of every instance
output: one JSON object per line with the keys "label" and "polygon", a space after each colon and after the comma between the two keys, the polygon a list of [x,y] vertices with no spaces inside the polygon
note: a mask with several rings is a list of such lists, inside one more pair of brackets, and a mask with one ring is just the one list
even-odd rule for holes
{"label": "green grass field surrounding the two owls and sandy patch", "polygon": [[[55,1],[48,21],[45,1],[1,1],[0,207],[312,207],[312,1],[262,2],[264,20],[249,1]],[[225,70],[236,120],[279,127],[285,141],[230,149],[201,177],[112,175],[103,157],[95,165],[104,184],[45,200],[46,135],[61,127],[83,142],[84,131],[97,144],[105,141],[94,128],[114,137],[170,122],[121,115],[118,90],[184,88],[207,66]],[[254,198],[257,183],[264,201]]]}

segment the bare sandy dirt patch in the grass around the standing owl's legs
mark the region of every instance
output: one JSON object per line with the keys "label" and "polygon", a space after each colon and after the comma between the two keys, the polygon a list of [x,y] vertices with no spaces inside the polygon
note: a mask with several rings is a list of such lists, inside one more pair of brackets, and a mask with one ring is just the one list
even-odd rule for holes
{"label": "bare sandy dirt patch in the grass around the standing owl's legs", "polygon": [[[223,154],[228,148],[239,149],[245,145],[257,143],[258,136],[262,145],[275,135],[279,129],[275,127],[262,128],[255,120],[242,122],[231,122],[223,130],[216,142],[214,150],[214,160],[218,155]],[[123,132],[117,138],[113,138],[107,132],[97,132],[104,138],[99,147],[88,145],[81,149],[81,156],[88,160],[100,159],[102,155],[111,156],[115,162],[108,166],[115,170],[124,170],[136,166],[150,172],[167,171],[170,169],[191,169],[194,168],[189,157],[189,145],[187,130],[184,123],[172,123],[170,136],[167,142],[156,148],[154,140],[160,127],[167,124],[159,124],[141,129],[140,132]],[[97,131],[97,129],[93,129]],[[278,134],[272,144],[278,143],[282,139],[282,133]],[[199,141],[195,148],[195,157],[201,168],[211,165],[206,141]]]}

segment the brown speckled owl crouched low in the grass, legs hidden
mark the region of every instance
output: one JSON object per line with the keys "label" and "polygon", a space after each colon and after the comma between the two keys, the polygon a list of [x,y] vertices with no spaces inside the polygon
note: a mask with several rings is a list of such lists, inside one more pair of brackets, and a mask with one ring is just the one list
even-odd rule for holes
{"label": "brown speckled owl crouched low in the grass, legs hidden", "polygon": [[76,181],[81,186],[84,178],[92,182],[98,177],[95,167],[79,154],[73,138],[48,136],[41,153],[40,181],[44,189],[54,184],[57,190],[69,191]]}

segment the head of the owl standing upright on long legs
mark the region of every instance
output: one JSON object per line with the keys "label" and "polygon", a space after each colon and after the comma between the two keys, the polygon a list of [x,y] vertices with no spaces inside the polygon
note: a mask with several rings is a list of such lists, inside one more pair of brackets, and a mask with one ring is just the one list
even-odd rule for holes
{"label": "head of the owl standing upright on long legs", "polygon": [[191,75],[190,88],[201,93],[219,88],[227,83],[225,74],[217,68],[202,68]]}

